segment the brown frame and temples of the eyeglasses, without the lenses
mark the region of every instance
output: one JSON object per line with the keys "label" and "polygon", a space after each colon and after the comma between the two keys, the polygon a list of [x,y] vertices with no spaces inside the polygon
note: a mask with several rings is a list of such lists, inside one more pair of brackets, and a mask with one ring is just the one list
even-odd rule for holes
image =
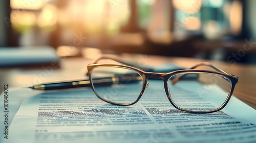
{"label": "brown frame and temples of the eyeglasses, without the lenses", "polygon": [[[112,59],[112,58],[100,58],[100,59]],[[99,60],[99,59],[98,59],[98,60]],[[97,60],[97,61],[98,61],[98,60]],[[121,61],[119,61],[119,60],[117,60],[117,59],[112,59],[112,60],[118,61],[118,62],[120,62],[120,63],[124,63],[124,62],[121,62]],[[97,62],[97,61],[96,61],[96,62]],[[167,74],[164,74],[164,73],[146,72],[146,71],[143,71],[143,70],[141,70],[141,69],[138,69],[138,68],[135,68],[135,67],[132,67],[132,66],[127,66],[127,65],[119,65],[119,64],[96,64],[96,62],[95,62],[95,64],[89,64],[89,65],[87,66],[87,69],[88,69],[87,75],[88,75],[89,78],[90,78],[90,82],[91,82],[92,89],[93,89],[94,93],[96,94],[96,96],[97,96],[99,99],[101,99],[101,100],[103,100],[103,101],[105,101],[105,102],[108,102],[108,103],[111,103],[111,104],[114,104],[114,105],[121,105],[121,106],[133,105],[133,104],[137,103],[137,102],[140,100],[140,98],[141,98],[143,92],[145,91],[145,89],[146,89],[147,86],[148,86],[147,79],[161,79],[161,80],[163,80],[163,82],[164,82],[164,89],[165,89],[165,93],[166,93],[166,95],[167,95],[167,98],[168,98],[169,102],[170,102],[175,108],[177,108],[177,109],[179,109],[179,110],[181,110],[181,111],[184,111],[184,112],[188,112],[188,113],[212,113],[212,112],[217,112],[217,111],[223,109],[223,108],[227,105],[229,99],[230,99],[231,96],[232,96],[232,93],[233,93],[233,90],[234,90],[234,86],[236,86],[236,84],[237,84],[237,82],[238,82],[238,77],[237,77],[237,76],[229,75],[229,74],[227,74],[225,71],[223,71],[222,69],[220,69],[220,68],[218,68],[218,67],[216,67],[216,66],[214,66],[214,65],[212,65],[212,64],[210,64],[210,63],[207,63],[207,62],[199,63],[199,64],[197,64],[197,65],[195,65],[195,66],[193,66],[193,67],[191,67],[191,68],[189,68],[189,69],[176,70],[176,71],[172,71],[172,72],[167,73]],[[196,67],[202,66],[202,65],[210,66],[210,67],[216,69],[216,70],[219,71],[219,72],[216,72],[216,71],[209,71],[209,70],[196,70],[196,69],[195,69]],[[97,94],[97,92],[95,91],[94,85],[92,84],[92,77],[91,77],[91,74],[92,74],[93,69],[96,68],[96,67],[120,67],[120,68],[126,68],[126,69],[130,69],[130,70],[136,71],[136,72],[142,77],[142,79],[143,79],[143,86],[142,86],[141,92],[140,92],[139,97],[137,98],[137,100],[134,101],[133,103],[129,103],[129,104],[120,104],[120,103],[111,102],[111,101],[108,101],[108,100],[105,100],[105,99],[101,98],[101,97]],[[172,76],[174,76],[174,75],[177,75],[177,74],[186,74],[186,73],[197,73],[197,74],[199,74],[199,73],[208,73],[208,74],[215,74],[215,75],[223,76],[223,77],[229,79],[229,80],[231,81],[231,88],[230,88],[230,91],[229,91],[229,94],[228,94],[228,97],[227,97],[226,101],[221,105],[221,107],[219,107],[219,108],[217,108],[217,109],[215,109],[215,110],[210,110],[210,111],[191,111],[191,110],[182,109],[182,108],[178,107],[176,104],[174,104],[172,98],[170,97],[170,92],[169,92],[169,88],[168,88],[168,81],[169,81],[170,77],[172,77]],[[173,83],[175,83],[175,82],[178,81],[179,79],[175,78],[175,79],[173,79],[173,80],[174,80]]]}

